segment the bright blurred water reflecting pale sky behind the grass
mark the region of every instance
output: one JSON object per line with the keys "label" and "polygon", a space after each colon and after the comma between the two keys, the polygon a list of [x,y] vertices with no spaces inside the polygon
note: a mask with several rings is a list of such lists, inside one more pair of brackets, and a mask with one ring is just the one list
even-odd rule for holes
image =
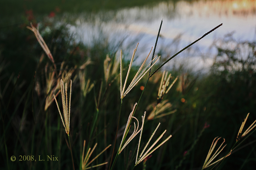
{"label": "bright blurred water reflecting pale sky behind the grass", "polygon": [[163,58],[172,56],[223,23],[169,65],[182,63],[197,70],[207,69],[217,54],[215,46],[225,37],[237,42],[256,40],[256,1],[252,0],[165,1],[154,6],[82,13],[75,20],[76,26],[70,26],[70,31],[88,46],[108,43],[112,49],[122,49],[130,56],[139,42],[136,56],[140,63],[155,44],[161,20],[156,54]]}

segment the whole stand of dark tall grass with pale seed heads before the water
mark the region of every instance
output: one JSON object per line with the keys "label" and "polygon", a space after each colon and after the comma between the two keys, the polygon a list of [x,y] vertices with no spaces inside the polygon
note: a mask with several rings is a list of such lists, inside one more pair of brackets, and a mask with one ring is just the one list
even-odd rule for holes
{"label": "whole stand of dark tall grass with pale seed heads before the water", "polygon": [[[31,28],[37,32],[35,27]],[[11,34],[9,39],[1,40],[4,46],[0,53],[1,169],[203,169],[207,166],[253,169],[256,162],[255,122],[251,121],[255,120],[252,112],[255,44],[249,43],[250,64],[235,60],[244,65],[242,70],[230,67],[234,58],[228,55],[236,52],[218,47],[220,56],[226,52],[231,59],[215,63],[210,75],[195,76],[175,69],[168,75],[167,71],[160,71],[162,63],[145,60],[141,67],[132,66],[136,45],[131,61],[126,61],[122,53],[118,59],[120,51],[115,56],[103,47],[70,45],[65,41],[71,37],[61,35],[65,30],[43,36],[45,43],[38,35],[44,50],[30,30],[22,31],[20,36],[30,37],[32,45],[26,49],[36,56],[28,58],[26,52],[20,53],[27,65],[15,67],[17,55],[10,49],[15,46],[22,50],[18,49],[19,44],[7,44],[13,41]],[[54,36],[68,38],[60,38],[61,42],[49,38]],[[59,56],[58,52],[65,55]],[[152,56],[155,57],[154,50]],[[32,73],[25,69],[31,63]],[[220,69],[221,64],[227,69]],[[149,76],[145,76],[148,72]],[[228,87],[240,92],[232,84],[233,80],[240,90],[247,90],[245,95],[238,95],[253,100],[246,107],[240,106],[240,113],[234,114],[229,101],[232,98],[225,94]],[[123,85],[128,82],[131,82],[129,86]],[[64,120],[54,100],[62,101]],[[230,103],[226,105],[223,101]],[[225,106],[229,112],[221,110]],[[251,114],[243,122],[248,112]],[[218,146],[212,141],[216,136],[226,139],[225,148],[224,144]],[[24,155],[26,158],[33,155],[36,161],[23,160]],[[39,155],[40,159],[54,155],[58,161],[39,161]],[[116,157],[111,162],[112,155]],[[11,156],[16,156],[16,161],[12,162]]]}

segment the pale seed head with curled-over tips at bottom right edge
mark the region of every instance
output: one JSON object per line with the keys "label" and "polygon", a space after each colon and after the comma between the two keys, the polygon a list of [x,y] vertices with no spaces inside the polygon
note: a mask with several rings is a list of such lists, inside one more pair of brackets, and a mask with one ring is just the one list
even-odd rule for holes
{"label": "pale seed head with curled-over tips at bottom right edge", "polygon": [[[217,161],[211,163],[211,162],[218,156],[218,154],[220,154],[220,152],[223,150],[223,148],[226,146],[226,145],[224,145],[224,146],[221,148],[221,146],[222,146],[223,143],[225,142],[225,139],[223,138],[224,141],[222,142],[222,144],[219,146],[219,148],[215,151],[215,153],[214,153],[214,154],[212,155],[212,157],[210,158],[210,156],[211,156],[211,154],[212,154],[212,152],[213,152],[213,150],[214,150],[216,144],[218,143],[218,140],[219,140],[221,137],[219,137],[218,139],[217,139],[217,138],[218,138],[218,137],[214,138],[214,140],[212,141],[212,145],[211,145],[210,150],[209,150],[209,152],[208,152],[208,154],[207,154],[207,157],[206,157],[206,159],[205,159],[205,163],[204,163],[202,169],[205,169],[205,168],[207,168],[207,167],[209,167],[209,166],[211,166],[211,165],[213,165],[213,164],[215,164],[215,163],[217,163],[217,162],[220,162],[222,159],[226,158],[227,156],[229,156],[229,155],[231,154],[231,151],[232,151],[232,150],[231,150],[226,156],[224,156],[224,157],[220,158],[219,160],[217,160]],[[215,141],[215,139],[217,139],[217,140]],[[215,141],[215,142],[214,142],[214,141]]]}

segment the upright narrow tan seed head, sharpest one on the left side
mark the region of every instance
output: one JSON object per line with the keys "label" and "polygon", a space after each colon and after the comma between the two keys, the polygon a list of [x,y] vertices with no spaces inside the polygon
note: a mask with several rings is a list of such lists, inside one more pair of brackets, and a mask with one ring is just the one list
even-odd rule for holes
{"label": "upright narrow tan seed head, sharpest one on the left side", "polygon": [[57,104],[59,115],[61,117],[61,121],[62,121],[63,126],[65,128],[65,131],[69,135],[72,80],[70,80],[69,106],[68,106],[68,103],[67,103],[67,101],[68,101],[68,99],[67,99],[67,83],[65,84],[65,93],[64,93],[64,83],[63,83],[62,79],[60,80],[60,85],[61,85],[61,99],[62,99],[62,106],[63,106],[63,116],[64,116],[65,123],[63,121],[61,111],[59,109],[59,105],[58,105],[57,99],[56,99],[54,94],[53,94],[53,97],[54,97],[55,102]]}

